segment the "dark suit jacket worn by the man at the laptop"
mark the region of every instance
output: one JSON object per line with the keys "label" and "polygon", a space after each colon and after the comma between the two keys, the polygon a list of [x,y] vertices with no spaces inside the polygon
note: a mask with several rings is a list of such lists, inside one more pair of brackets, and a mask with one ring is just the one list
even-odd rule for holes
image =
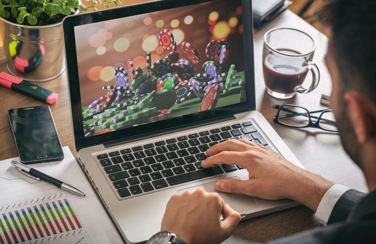
{"label": "dark suit jacket worn by the man at the laptop", "polygon": [[270,244],[376,243],[376,190],[368,195],[347,190],[335,203],[326,227],[318,227]]}

